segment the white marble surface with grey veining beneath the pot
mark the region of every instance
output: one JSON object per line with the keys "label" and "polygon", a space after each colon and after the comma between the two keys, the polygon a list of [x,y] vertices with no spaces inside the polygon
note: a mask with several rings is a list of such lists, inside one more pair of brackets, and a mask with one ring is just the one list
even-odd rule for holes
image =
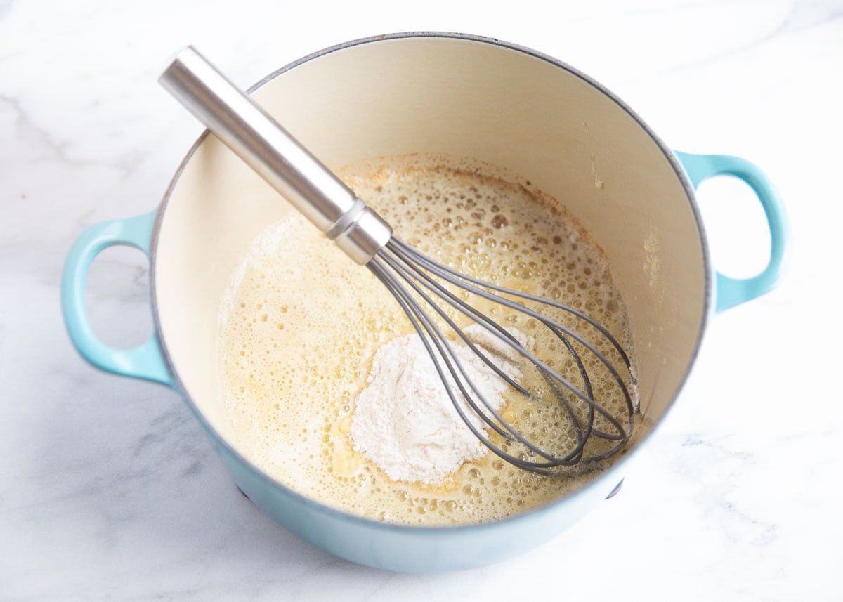
{"label": "white marble surface with grey veining beneath the pot", "polygon": [[[0,599],[843,599],[843,4],[565,4],[0,0]],[[174,393],[78,357],[58,303],[72,239],[155,207],[199,132],[156,83],[177,48],[245,86],[400,30],[545,51],[675,148],[754,160],[794,240],[781,288],[711,322],[620,495],[539,550],[444,575],[357,567],[289,535],[240,496]],[[762,265],[745,188],[711,183],[701,203],[717,265]],[[148,336],[147,295],[141,254],[99,257],[88,299],[105,341]]]}

